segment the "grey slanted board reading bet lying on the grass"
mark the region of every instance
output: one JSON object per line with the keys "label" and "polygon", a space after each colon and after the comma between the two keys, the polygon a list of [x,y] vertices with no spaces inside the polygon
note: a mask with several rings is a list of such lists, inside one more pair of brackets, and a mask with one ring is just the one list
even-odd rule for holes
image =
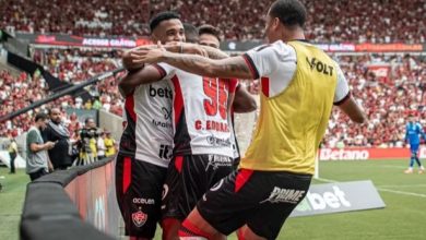
{"label": "grey slanted board reading bet lying on the grass", "polygon": [[371,181],[336,182],[311,185],[293,217],[341,213],[386,205]]}

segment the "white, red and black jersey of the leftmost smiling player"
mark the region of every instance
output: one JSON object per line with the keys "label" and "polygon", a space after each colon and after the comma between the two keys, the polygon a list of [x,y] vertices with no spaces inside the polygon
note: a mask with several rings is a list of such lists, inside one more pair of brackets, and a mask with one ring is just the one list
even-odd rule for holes
{"label": "white, red and black jersey of the leftmost smiling player", "polygon": [[167,167],[173,155],[173,91],[166,80],[140,85],[126,97],[120,154]]}

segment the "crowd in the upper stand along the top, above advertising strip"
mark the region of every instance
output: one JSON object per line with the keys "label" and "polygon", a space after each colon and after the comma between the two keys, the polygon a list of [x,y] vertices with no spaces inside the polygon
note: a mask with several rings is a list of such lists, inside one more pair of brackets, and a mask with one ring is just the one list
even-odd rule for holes
{"label": "crowd in the upper stand along the top, above advertising strip", "polygon": [[[150,17],[164,10],[194,25],[212,24],[226,39],[261,39],[272,1],[256,0],[4,0],[0,28],[10,32],[93,36],[146,36]],[[310,14],[307,38],[317,43],[424,43],[423,0],[304,0]],[[235,11],[238,9],[239,11]],[[329,17],[333,15],[335,17]],[[401,21],[410,19],[410,21]]]}

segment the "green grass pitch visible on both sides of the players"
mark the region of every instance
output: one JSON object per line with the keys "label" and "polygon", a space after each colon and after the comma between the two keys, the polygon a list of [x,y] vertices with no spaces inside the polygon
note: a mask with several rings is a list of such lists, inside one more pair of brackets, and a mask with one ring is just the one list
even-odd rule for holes
{"label": "green grass pitch visible on both sides of the players", "polygon": [[[426,239],[426,175],[404,175],[409,160],[321,161],[320,178],[330,181],[371,180],[383,209],[289,218],[279,239],[423,240]],[[0,239],[19,239],[17,225],[28,177],[0,168]],[[267,217],[267,216],[265,216]],[[155,239],[161,239],[157,230]],[[230,236],[228,239],[236,239]]]}

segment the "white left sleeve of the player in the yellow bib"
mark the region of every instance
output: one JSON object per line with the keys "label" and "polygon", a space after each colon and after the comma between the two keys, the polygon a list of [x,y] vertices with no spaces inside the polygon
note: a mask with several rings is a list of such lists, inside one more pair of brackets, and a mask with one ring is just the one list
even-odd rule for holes
{"label": "white left sleeve of the player in the yellow bib", "polygon": [[294,49],[283,43],[263,45],[242,55],[253,79],[269,76],[282,62],[287,60]]}

